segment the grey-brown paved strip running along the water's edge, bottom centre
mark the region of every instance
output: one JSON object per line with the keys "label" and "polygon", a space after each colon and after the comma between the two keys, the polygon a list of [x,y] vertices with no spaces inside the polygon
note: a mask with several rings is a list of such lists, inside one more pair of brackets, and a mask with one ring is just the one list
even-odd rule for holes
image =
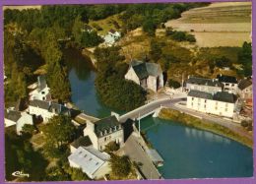
{"label": "grey-brown paved strip running along the water's edge, bottom centre", "polygon": [[124,153],[129,155],[131,160],[142,163],[140,169],[147,179],[160,179],[158,169],[155,167],[148,154],[145,153],[138,144],[137,140],[138,137],[132,134],[125,142],[125,146],[123,148]]}

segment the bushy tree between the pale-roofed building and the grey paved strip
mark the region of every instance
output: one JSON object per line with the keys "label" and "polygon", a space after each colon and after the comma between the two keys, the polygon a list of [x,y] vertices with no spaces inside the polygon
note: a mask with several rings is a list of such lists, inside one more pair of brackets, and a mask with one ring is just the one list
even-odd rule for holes
{"label": "bushy tree between the pale-roofed building and the grey paved strip", "polygon": [[109,162],[114,176],[123,178],[128,176],[131,171],[131,162],[126,155],[118,156],[111,153]]}

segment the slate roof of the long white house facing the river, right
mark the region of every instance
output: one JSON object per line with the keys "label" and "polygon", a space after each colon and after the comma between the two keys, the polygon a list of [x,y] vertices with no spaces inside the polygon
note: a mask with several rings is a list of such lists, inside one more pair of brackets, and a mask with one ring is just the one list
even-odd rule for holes
{"label": "slate roof of the long white house facing the river, right", "polygon": [[209,92],[200,92],[200,91],[190,91],[188,92],[189,96],[204,98],[204,99],[213,99],[217,101],[224,101],[228,103],[234,103],[237,97],[233,93],[229,92],[216,92],[216,93],[209,93]]}

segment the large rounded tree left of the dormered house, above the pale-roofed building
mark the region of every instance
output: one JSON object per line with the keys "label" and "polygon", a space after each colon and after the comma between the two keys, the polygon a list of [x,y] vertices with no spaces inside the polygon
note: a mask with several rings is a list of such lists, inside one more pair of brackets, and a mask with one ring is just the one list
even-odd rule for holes
{"label": "large rounded tree left of the dormered house, above the pale-roofed building", "polygon": [[42,129],[45,146],[60,150],[63,145],[73,141],[76,128],[71,118],[65,115],[53,116]]}

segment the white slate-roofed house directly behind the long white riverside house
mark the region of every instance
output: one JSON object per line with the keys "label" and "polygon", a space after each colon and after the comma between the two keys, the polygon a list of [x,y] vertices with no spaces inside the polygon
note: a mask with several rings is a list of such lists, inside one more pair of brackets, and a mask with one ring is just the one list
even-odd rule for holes
{"label": "white slate-roofed house directly behind the long white riverside house", "polygon": [[215,79],[188,76],[185,89],[187,91],[222,92],[223,84]]}

